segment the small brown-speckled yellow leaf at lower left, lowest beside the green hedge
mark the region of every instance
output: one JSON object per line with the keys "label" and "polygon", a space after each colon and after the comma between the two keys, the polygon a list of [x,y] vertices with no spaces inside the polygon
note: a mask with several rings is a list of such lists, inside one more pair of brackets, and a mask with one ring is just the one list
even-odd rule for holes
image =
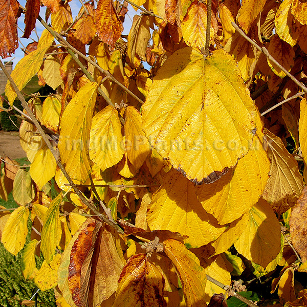
{"label": "small brown-speckled yellow leaf at lower left, lowest beside the green hedge", "polygon": [[46,291],[54,288],[57,285],[57,270],[60,266],[61,255],[53,256],[50,264],[46,260],[35,275],[34,282],[41,291]]}

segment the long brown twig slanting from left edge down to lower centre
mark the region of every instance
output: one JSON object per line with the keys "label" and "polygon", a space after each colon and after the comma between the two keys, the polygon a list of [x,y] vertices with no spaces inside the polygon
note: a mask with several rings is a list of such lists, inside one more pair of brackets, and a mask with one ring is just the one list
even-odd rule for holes
{"label": "long brown twig slanting from left edge down to lower centre", "polygon": [[7,78],[9,79],[11,86],[13,87],[17,97],[19,98],[21,105],[23,105],[23,107],[25,108],[25,110],[27,111],[28,115],[30,116],[31,120],[33,121],[34,125],[37,128],[37,131],[39,132],[39,134],[41,135],[42,139],[45,141],[47,147],[50,149],[50,151],[52,152],[53,157],[55,158],[55,161],[58,165],[58,167],[60,168],[60,170],[62,171],[62,173],[64,174],[65,178],[68,180],[68,182],[71,184],[71,186],[73,187],[74,191],[76,192],[76,194],[79,196],[80,200],[87,206],[89,207],[99,218],[101,218],[101,220],[105,223],[107,223],[109,226],[115,228],[118,232],[123,233],[123,230],[116,224],[113,223],[112,221],[109,221],[108,218],[106,218],[103,214],[101,214],[96,208],[95,206],[93,206],[86,198],[85,196],[81,193],[81,191],[76,187],[76,185],[74,184],[74,182],[72,181],[72,179],[70,178],[69,174],[67,173],[67,171],[65,170],[61,160],[59,159],[59,155],[58,153],[55,151],[55,149],[53,148],[53,146],[51,145],[47,135],[45,134],[45,132],[43,131],[42,127],[40,126],[39,122],[37,121],[36,117],[33,115],[27,101],[25,100],[24,96],[20,93],[16,83],[14,82],[14,80],[12,79],[12,77],[10,76],[9,72],[7,71],[7,69],[5,68],[2,60],[0,60],[0,68],[3,70],[3,72],[5,73],[5,75],[7,76]]}

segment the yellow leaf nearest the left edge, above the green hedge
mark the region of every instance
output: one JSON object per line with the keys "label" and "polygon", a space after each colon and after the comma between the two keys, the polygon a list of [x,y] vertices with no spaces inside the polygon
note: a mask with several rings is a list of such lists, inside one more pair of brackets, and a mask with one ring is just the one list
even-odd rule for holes
{"label": "yellow leaf nearest the left edge, above the green hedge", "polygon": [[1,242],[4,247],[15,256],[26,243],[28,217],[29,209],[20,206],[11,213],[5,224]]}

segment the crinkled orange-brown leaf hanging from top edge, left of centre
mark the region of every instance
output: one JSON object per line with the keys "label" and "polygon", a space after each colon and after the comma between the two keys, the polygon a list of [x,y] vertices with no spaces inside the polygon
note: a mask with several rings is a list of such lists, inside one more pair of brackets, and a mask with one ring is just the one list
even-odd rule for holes
{"label": "crinkled orange-brown leaf hanging from top edge, left of centre", "polygon": [[123,25],[119,19],[113,0],[99,0],[96,9],[96,27],[99,38],[114,47]]}

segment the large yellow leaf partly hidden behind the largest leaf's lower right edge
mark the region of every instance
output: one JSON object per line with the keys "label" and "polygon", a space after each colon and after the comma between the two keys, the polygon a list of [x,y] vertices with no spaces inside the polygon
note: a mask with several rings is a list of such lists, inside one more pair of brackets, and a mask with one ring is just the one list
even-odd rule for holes
{"label": "large yellow leaf partly hidden behind the largest leaf's lower right edge", "polygon": [[[259,136],[259,137],[258,137]],[[198,200],[219,224],[231,223],[259,200],[269,179],[270,160],[263,147],[261,130],[245,157],[220,180],[198,188]]]}

